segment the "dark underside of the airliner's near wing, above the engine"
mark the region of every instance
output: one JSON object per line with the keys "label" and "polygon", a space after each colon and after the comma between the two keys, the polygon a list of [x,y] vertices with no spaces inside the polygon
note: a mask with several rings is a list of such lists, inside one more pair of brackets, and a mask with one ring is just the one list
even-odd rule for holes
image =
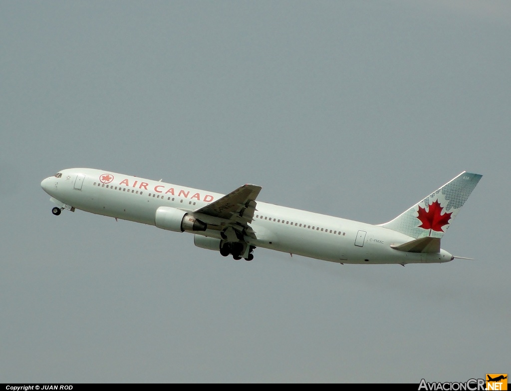
{"label": "dark underside of the airliner's near wing, above the engine", "polygon": [[252,228],[248,223],[253,219],[255,206],[257,205],[255,198],[259,195],[261,189],[261,186],[257,185],[240,186],[222,198],[196,209],[194,214],[200,213],[228,220],[222,224],[224,228],[230,226],[237,232],[253,236]]}

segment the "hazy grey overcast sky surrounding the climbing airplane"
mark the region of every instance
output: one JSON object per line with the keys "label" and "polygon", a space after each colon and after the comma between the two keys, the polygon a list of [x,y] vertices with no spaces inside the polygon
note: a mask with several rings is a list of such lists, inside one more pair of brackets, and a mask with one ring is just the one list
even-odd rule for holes
{"label": "hazy grey overcast sky surrounding the climbing airplane", "polygon": [[[511,3],[0,1],[0,381],[511,372]],[[447,264],[340,265],[76,211],[121,172],[368,223],[483,175]]]}

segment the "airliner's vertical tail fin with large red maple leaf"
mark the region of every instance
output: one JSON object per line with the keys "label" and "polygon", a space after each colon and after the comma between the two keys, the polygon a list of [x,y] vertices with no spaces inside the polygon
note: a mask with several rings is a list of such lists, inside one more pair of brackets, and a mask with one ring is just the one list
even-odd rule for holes
{"label": "airliner's vertical tail fin with large red maple leaf", "polygon": [[380,226],[415,239],[442,238],[481,177],[463,171],[406,212]]}

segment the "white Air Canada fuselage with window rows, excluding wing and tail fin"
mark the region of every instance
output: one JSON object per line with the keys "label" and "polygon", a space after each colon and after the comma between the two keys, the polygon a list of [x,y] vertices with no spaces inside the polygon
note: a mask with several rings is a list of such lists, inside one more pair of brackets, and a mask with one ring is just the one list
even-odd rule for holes
{"label": "white Air Canada fuselage with window rows, excluding wing and tail fin", "polygon": [[[223,196],[96,169],[66,169],[60,173],[60,178],[48,177],[41,186],[61,208],[76,208],[148,225],[155,225],[155,213],[160,206],[192,212]],[[331,262],[407,264],[452,259],[444,250],[439,254],[423,254],[393,249],[391,245],[413,238],[392,229],[261,201],[257,201],[249,225],[257,239],[245,237],[244,240],[252,246]],[[194,234],[220,237],[213,229]]]}

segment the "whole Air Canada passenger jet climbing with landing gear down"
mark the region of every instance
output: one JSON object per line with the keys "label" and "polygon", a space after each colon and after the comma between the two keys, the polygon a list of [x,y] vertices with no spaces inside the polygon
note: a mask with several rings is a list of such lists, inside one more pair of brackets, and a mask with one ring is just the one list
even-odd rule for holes
{"label": "whole Air Canada passenger jet climbing with landing gear down", "polygon": [[223,195],[91,168],[61,170],[41,182],[56,206],[194,234],[197,247],[235,260],[257,247],[340,264],[444,263],[440,239],[482,175],[463,171],[383,224],[368,224],[258,201],[261,186]]}

